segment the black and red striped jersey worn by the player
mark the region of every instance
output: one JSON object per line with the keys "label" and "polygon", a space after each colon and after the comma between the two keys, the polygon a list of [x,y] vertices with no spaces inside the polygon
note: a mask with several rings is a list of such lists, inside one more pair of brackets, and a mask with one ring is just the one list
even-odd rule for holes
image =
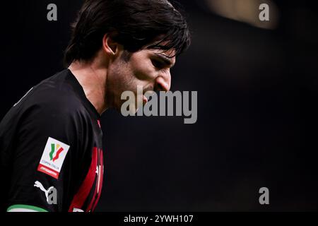
{"label": "black and red striped jersey worn by the player", "polygon": [[104,172],[100,114],[69,69],[33,87],[0,124],[1,208],[93,211]]}

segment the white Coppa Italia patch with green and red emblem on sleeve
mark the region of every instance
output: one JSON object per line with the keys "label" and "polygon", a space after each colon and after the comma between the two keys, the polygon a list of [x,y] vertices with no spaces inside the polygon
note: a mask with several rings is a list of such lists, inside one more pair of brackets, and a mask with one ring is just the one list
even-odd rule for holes
{"label": "white Coppa Italia patch with green and red emblem on sleeve", "polygon": [[49,137],[37,170],[58,179],[68,151],[69,145]]}

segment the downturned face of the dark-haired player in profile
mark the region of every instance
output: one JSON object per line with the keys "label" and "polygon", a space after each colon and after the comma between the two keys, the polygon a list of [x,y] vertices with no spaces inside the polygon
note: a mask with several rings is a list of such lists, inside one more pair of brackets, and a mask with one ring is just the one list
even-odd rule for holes
{"label": "downturned face of the dark-haired player in profile", "polygon": [[139,52],[122,51],[112,61],[107,75],[107,102],[111,107],[120,110],[121,95],[124,91],[135,93],[136,100],[147,102],[143,95],[137,96],[137,86],[146,91],[169,91],[171,85],[170,69],[175,65],[175,51],[163,52],[160,49],[141,49]]}

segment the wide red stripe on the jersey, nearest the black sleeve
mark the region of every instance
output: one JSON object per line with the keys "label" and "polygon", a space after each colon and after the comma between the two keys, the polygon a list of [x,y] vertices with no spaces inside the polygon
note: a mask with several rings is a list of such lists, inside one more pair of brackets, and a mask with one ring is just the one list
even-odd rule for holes
{"label": "wide red stripe on the jersey, nearest the black sleeve", "polygon": [[88,195],[90,194],[90,191],[95,181],[95,172],[96,172],[97,165],[98,165],[98,149],[93,148],[92,162],[90,163],[90,169],[88,170],[88,174],[86,175],[86,178],[83,184],[81,185],[80,189],[74,196],[73,201],[71,202],[71,206],[69,207],[69,212],[73,212],[73,208],[78,208],[78,209],[83,208],[83,204],[88,198]]}

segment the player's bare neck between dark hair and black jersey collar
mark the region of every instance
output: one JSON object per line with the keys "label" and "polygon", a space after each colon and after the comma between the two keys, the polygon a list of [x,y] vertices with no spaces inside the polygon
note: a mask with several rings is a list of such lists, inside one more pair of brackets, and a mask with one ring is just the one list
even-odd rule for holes
{"label": "player's bare neck between dark hair and black jersey collar", "polygon": [[[105,64],[104,64],[105,65]],[[73,61],[69,70],[83,87],[87,99],[99,114],[107,109],[106,78],[107,69],[98,61]]]}

